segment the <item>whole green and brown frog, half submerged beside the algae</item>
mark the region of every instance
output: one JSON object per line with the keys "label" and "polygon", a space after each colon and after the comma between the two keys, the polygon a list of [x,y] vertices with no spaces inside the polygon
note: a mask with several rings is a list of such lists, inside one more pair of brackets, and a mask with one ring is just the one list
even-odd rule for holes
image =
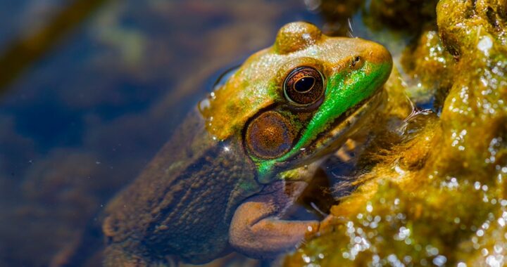
{"label": "whole green and brown frog, half submerged beside the algae", "polygon": [[377,107],[391,69],[379,44],[327,37],[305,22],[282,27],[275,44],[202,101],[108,204],[106,266],[206,263],[232,249],[270,258],[294,249],[320,222],[280,216],[318,161]]}

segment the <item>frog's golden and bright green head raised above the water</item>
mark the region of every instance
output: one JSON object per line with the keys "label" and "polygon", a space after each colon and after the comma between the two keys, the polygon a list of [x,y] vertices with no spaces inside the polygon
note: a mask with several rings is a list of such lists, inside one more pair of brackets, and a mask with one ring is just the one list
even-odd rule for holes
{"label": "frog's golden and bright green head raised above the water", "polygon": [[392,69],[386,48],[327,37],[315,25],[289,23],[275,44],[253,54],[201,109],[219,140],[237,138],[270,183],[279,171],[339,148],[373,110]]}

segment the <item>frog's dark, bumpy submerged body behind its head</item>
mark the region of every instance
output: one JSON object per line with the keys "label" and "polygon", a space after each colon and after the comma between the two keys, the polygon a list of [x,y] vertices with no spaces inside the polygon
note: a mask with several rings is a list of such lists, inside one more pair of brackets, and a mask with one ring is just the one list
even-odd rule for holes
{"label": "frog's dark, bumpy submerged body behind its head", "polygon": [[215,259],[235,207],[259,189],[235,140],[217,143],[194,111],[142,174],[106,208],[106,265]]}

